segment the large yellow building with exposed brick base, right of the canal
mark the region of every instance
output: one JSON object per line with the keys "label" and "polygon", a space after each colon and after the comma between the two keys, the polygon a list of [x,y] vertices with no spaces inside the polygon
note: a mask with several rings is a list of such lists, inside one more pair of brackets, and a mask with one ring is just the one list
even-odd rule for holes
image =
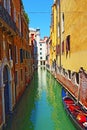
{"label": "large yellow building with exposed brick base, right of the canal", "polygon": [[[55,0],[57,17],[57,78],[87,109],[87,4],[86,0]],[[53,10],[53,9],[52,9]],[[55,26],[55,24],[53,24]],[[50,30],[52,33],[52,28]],[[50,35],[53,41],[52,34]],[[51,54],[52,55],[52,52]]]}

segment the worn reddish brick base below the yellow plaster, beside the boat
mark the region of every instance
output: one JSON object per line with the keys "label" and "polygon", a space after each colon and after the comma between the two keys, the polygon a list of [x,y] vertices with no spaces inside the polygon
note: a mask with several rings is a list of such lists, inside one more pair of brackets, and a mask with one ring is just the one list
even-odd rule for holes
{"label": "worn reddish brick base below the yellow plaster, beside the boat", "polygon": [[75,72],[71,76],[71,79],[57,73],[56,78],[58,81],[87,108],[87,73],[82,70],[79,71],[79,84],[76,82]]}

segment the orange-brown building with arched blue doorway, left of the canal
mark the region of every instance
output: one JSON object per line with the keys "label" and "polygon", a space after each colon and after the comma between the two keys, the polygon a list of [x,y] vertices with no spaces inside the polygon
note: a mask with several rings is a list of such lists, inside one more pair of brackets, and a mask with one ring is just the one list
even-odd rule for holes
{"label": "orange-brown building with arched blue doorway, left of the canal", "polygon": [[30,53],[22,1],[0,0],[0,127],[30,82]]}

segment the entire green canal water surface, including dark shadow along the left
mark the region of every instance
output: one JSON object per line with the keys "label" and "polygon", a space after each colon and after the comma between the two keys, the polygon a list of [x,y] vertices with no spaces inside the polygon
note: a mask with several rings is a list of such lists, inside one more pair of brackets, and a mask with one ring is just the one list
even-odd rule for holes
{"label": "entire green canal water surface, including dark shadow along the left", "polygon": [[5,130],[76,130],[66,114],[61,85],[45,69],[38,69]]}

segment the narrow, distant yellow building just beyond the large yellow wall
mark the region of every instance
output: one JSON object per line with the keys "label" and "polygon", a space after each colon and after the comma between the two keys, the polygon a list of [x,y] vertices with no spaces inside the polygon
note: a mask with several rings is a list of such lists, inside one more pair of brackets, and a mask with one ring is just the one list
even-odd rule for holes
{"label": "narrow, distant yellow building just beyond the large yellow wall", "polygon": [[56,44],[57,44],[57,5],[54,2],[51,13],[51,26],[50,26],[50,64],[53,69],[53,64],[56,59]]}

